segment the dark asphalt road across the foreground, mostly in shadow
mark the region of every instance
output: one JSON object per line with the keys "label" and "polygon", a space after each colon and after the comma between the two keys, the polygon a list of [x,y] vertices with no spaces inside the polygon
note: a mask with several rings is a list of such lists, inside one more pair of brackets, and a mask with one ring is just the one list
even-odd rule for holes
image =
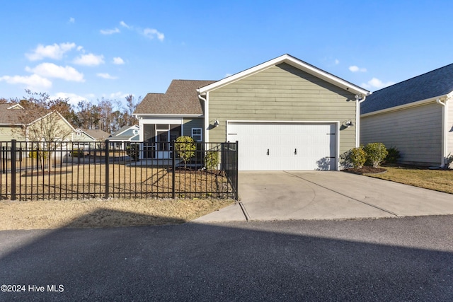
{"label": "dark asphalt road across the foreground, mostly in shadow", "polygon": [[0,301],[453,301],[453,216],[1,231],[0,284]]}

